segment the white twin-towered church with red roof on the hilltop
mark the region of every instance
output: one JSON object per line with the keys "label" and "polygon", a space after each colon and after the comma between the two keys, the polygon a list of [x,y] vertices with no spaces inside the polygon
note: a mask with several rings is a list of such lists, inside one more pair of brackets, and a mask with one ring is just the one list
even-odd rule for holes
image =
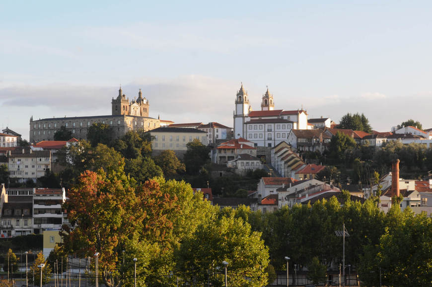
{"label": "white twin-towered church with red roof on the hilltop", "polygon": [[311,129],[307,124],[307,113],[303,109],[275,110],[273,95],[269,88],[263,94],[261,111],[252,111],[247,91],[241,84],[235,99],[234,138],[244,138],[255,146],[274,147],[287,141],[291,129]]}

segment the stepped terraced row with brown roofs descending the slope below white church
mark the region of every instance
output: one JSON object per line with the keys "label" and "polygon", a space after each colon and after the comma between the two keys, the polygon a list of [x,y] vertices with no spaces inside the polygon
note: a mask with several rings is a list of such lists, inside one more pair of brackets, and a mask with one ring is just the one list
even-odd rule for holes
{"label": "stepped terraced row with brown roofs descending the slope below white church", "polygon": [[281,142],[271,150],[272,165],[282,177],[294,177],[295,172],[306,163],[291,150],[291,145]]}

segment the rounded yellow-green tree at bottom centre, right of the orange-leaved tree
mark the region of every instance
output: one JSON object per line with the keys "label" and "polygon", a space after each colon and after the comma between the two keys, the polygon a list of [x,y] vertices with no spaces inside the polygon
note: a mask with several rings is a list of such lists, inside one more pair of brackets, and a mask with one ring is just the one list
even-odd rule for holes
{"label": "rounded yellow-green tree at bottom centre, right of the orange-leaved tree", "polygon": [[220,286],[222,261],[228,262],[229,286],[265,286],[269,264],[268,248],[261,233],[233,214],[205,222],[187,237],[176,253],[178,269],[187,282]]}

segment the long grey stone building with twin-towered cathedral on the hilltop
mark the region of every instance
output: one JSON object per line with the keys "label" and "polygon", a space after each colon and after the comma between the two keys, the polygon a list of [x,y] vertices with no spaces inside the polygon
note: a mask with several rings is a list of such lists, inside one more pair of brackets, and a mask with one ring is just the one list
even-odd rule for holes
{"label": "long grey stone building with twin-towered cathedral on the hilltop", "polygon": [[120,87],[119,94],[111,101],[112,114],[106,116],[65,117],[33,120],[30,118],[30,143],[53,141],[54,134],[62,126],[76,139],[87,139],[87,130],[94,123],[107,124],[118,138],[128,131],[149,131],[160,127],[160,120],[149,117],[149,103],[140,89],[137,99],[129,100]]}

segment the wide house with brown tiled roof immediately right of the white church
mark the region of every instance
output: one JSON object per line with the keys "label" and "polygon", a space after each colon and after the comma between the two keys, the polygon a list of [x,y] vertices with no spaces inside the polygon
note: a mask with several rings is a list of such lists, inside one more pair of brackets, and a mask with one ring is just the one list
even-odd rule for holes
{"label": "wide house with brown tiled roof immediately right of the white church", "polygon": [[296,151],[319,151],[328,149],[331,136],[322,130],[291,130],[288,144]]}

